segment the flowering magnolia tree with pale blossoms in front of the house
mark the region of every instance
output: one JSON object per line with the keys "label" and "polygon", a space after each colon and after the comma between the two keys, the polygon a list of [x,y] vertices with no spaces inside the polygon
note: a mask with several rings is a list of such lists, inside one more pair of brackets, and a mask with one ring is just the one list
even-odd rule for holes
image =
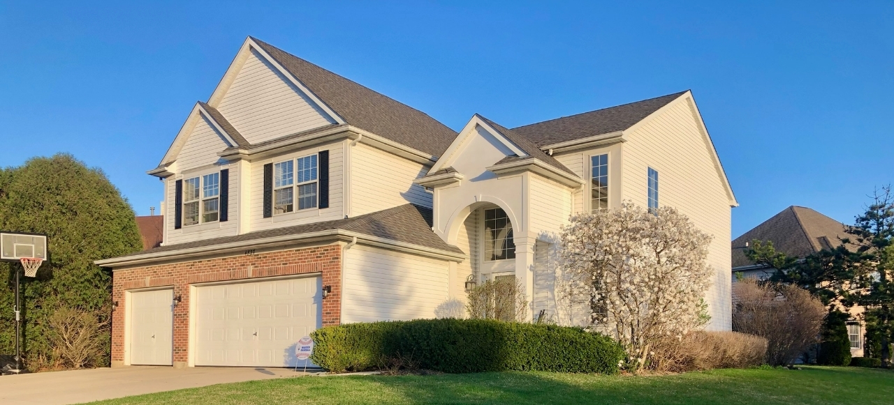
{"label": "flowering magnolia tree with pale blossoms in front of the house", "polygon": [[650,345],[707,321],[709,244],[711,236],[671,207],[652,213],[624,202],[572,217],[562,230],[561,261],[573,280],[569,293],[588,298],[595,328],[626,346],[636,371]]}

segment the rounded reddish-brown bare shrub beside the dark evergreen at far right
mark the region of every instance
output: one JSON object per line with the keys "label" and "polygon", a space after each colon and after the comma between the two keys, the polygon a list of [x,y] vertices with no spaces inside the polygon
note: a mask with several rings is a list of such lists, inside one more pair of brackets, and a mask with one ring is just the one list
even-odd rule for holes
{"label": "rounded reddish-brown bare shrub beside the dark evergreen at far right", "polygon": [[745,279],[733,285],[732,295],[732,329],[765,337],[770,365],[790,365],[819,342],[826,309],[806,290]]}

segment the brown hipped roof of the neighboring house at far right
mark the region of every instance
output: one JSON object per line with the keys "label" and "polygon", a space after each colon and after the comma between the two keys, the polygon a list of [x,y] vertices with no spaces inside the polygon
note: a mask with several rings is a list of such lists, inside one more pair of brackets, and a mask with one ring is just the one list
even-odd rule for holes
{"label": "brown hipped roof of the neighboring house at far right", "polygon": [[848,226],[806,207],[792,205],[732,241],[732,267],[752,266],[745,256],[746,243],[772,241],[777,252],[804,258],[841,244],[849,237]]}

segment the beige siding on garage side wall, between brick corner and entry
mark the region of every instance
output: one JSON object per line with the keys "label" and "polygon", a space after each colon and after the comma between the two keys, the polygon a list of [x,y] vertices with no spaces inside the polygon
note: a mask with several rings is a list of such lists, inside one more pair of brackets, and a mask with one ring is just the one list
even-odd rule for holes
{"label": "beige siding on garage side wall, between brick corner and entry", "polygon": [[434,318],[447,275],[444,260],[354,245],[344,254],[342,323]]}

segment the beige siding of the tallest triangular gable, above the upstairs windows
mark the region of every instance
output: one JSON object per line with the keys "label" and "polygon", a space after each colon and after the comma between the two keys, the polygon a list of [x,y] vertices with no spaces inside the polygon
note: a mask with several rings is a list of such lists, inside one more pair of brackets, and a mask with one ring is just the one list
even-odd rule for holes
{"label": "beige siding of the tallest triangular gable, above the upstairs windows", "polygon": [[254,49],[217,110],[252,144],[334,122]]}

